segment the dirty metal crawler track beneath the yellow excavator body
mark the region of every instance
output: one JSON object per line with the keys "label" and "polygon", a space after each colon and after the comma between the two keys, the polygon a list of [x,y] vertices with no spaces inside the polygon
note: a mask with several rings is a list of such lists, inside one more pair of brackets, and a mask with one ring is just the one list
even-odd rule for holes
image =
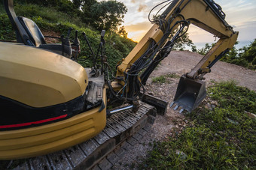
{"label": "dirty metal crawler track beneath the yellow excavator body", "polygon": [[126,150],[145,136],[154,123],[157,110],[139,102],[132,109],[117,112],[107,119],[102,133],[84,143],[40,157],[32,157],[15,169],[110,169]]}

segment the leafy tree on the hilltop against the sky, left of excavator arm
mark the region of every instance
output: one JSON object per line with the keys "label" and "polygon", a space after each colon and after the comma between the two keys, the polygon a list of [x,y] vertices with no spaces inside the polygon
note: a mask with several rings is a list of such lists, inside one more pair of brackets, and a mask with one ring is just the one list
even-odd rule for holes
{"label": "leafy tree on the hilltop against the sky, left of excavator arm", "polygon": [[122,2],[111,0],[93,4],[90,11],[94,19],[93,24],[98,30],[115,31],[123,22],[127,8]]}

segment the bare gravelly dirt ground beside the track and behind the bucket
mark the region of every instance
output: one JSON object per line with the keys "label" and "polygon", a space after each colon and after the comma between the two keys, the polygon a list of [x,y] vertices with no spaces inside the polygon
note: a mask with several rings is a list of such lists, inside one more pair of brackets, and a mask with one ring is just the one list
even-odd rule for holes
{"label": "bare gravelly dirt ground beside the track and behind the bucket", "polygon": [[[157,67],[148,79],[145,87],[148,94],[172,103],[179,79],[171,78],[169,82],[163,84],[152,83],[151,79],[169,73],[175,73],[181,76],[184,73],[190,72],[202,57],[202,55],[198,55],[195,52],[171,52],[169,57],[161,62],[160,67]],[[206,75],[206,86],[211,84],[211,79],[216,82],[233,79],[240,86],[256,91],[256,71],[248,70],[234,64],[218,61],[212,67],[212,72]],[[173,127],[179,129],[184,128],[186,122],[187,120],[184,119],[182,114],[168,107],[166,115],[157,115],[154,125],[151,127],[151,133],[146,134],[141,142],[127,152],[123,156],[123,159],[119,160],[112,169],[137,169],[137,165],[142,162],[148,151],[151,150],[152,143],[166,139],[172,133]]]}

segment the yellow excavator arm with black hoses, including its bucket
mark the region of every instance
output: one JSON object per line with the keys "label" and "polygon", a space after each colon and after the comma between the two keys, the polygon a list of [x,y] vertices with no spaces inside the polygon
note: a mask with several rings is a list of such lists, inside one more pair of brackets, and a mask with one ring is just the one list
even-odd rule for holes
{"label": "yellow excavator arm with black hoses, including its bucket", "polygon": [[[234,46],[238,32],[233,31],[227,24],[225,13],[215,1],[174,0],[167,3],[169,6],[161,15],[150,19],[154,25],[148,33],[132,52],[123,58],[117,67],[117,79],[111,85],[119,93],[121,89],[122,96],[136,100],[138,91],[143,88],[157,64],[169,55],[175,40],[187,31],[190,24],[196,25],[219,40],[190,73],[181,76],[174,103],[177,104],[176,108],[182,106],[190,112],[206,97],[203,76]],[[189,57],[187,59],[189,60]]]}

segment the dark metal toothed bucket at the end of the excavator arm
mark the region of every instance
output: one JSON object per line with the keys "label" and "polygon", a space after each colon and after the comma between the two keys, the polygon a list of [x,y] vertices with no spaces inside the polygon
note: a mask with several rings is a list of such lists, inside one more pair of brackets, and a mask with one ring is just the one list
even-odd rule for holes
{"label": "dark metal toothed bucket at the end of the excavator arm", "polygon": [[189,79],[183,75],[178,82],[178,88],[172,105],[176,105],[175,109],[181,107],[180,112],[183,112],[183,110],[191,112],[197,108],[205,97],[206,82]]}

